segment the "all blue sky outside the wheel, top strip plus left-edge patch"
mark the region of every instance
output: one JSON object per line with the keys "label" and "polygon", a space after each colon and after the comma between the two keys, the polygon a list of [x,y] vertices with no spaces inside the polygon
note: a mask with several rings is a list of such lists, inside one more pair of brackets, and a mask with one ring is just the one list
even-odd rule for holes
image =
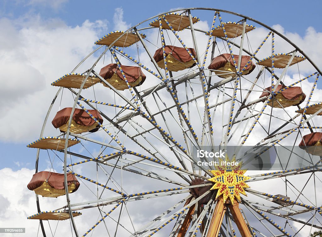
{"label": "all blue sky outside the wheel, top strip plus left-edge patch", "polygon": [[[166,12],[173,8],[185,7],[211,7],[229,10],[244,14],[269,26],[280,24],[285,31],[305,35],[309,26],[321,32],[319,10],[320,1],[303,4],[303,1],[46,1],[46,0],[2,0],[0,2],[0,15],[2,20],[14,22],[30,18],[40,18],[43,21],[55,19],[68,27],[82,25],[85,20],[107,22],[108,31],[113,30],[113,15],[115,9],[121,7],[123,20],[129,24],[137,24],[156,14]],[[228,3],[228,4],[227,4]],[[199,16],[200,17],[200,16]],[[27,26],[26,26],[27,27]],[[103,32],[103,34],[105,34]],[[91,45],[92,46],[92,45]],[[49,46],[50,47],[50,46]],[[76,64],[77,62],[74,62]],[[52,93],[52,97],[54,92]],[[51,97],[51,98],[52,98]],[[45,111],[43,111],[43,116]],[[42,119],[42,118],[41,118]],[[41,120],[40,119],[40,120]],[[41,125],[39,125],[41,126]],[[35,140],[32,137],[30,142]],[[11,167],[14,170],[22,166],[32,169],[34,167],[35,149],[26,148],[26,142],[19,139],[0,141],[3,159],[0,169]]]}

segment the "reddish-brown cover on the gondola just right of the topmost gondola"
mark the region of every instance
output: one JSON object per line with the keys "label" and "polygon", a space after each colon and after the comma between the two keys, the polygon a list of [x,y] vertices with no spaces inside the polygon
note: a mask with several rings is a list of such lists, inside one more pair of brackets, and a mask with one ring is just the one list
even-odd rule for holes
{"label": "reddish-brown cover on the gondola just right of the topmost gondola", "polygon": [[[242,55],[242,62],[240,66],[240,70],[243,69],[246,65],[246,63],[251,59],[251,56]],[[234,54],[234,60],[236,62],[236,65],[239,60],[239,55]],[[230,53],[224,53],[221,54],[213,59],[213,61],[208,66],[208,69],[211,70],[219,70],[220,68],[223,68],[227,62],[230,62],[232,65],[234,65],[234,61],[232,60],[232,55]],[[247,70],[248,73],[251,73],[255,69],[256,65],[253,64],[251,61],[247,67],[245,68],[245,71]]]}

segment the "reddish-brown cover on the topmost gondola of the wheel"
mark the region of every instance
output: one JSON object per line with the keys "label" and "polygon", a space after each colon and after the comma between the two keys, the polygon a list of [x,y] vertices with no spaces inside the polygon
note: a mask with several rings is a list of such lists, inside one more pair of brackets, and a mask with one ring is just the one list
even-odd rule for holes
{"label": "reddish-brown cover on the topmost gondola of the wheel", "polygon": [[[172,45],[166,45],[164,48],[165,48],[165,51],[166,51],[166,56],[168,56],[168,54],[171,54],[171,56],[174,57],[179,62],[189,62],[190,60],[192,60],[192,57],[186,51],[185,48],[180,48],[180,47],[176,47],[176,46],[172,46]],[[188,49],[189,49],[189,51],[191,52],[191,54],[195,58],[196,57],[196,52],[194,51],[194,49],[193,48],[188,48]],[[163,50],[162,50],[162,48],[159,48],[159,49],[156,50],[156,52],[154,53],[153,58],[154,58],[154,60],[156,62],[159,62],[159,61],[163,60]],[[191,67],[193,67],[194,65],[195,65],[195,63]]]}

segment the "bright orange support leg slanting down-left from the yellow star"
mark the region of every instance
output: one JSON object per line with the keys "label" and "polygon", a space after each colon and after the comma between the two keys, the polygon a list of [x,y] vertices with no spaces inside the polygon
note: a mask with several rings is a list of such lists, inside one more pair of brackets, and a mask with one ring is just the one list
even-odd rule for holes
{"label": "bright orange support leg slanting down-left from the yellow star", "polygon": [[220,226],[223,223],[223,216],[225,214],[227,207],[223,203],[223,195],[221,195],[213,211],[213,216],[208,228],[207,237],[217,237],[220,231]]}

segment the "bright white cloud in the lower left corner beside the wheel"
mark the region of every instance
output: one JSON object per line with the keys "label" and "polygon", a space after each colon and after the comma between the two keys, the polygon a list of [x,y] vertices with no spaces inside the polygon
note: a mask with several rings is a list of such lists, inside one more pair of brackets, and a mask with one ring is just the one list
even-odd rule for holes
{"label": "bright white cloud in the lower left corner beside the wheel", "polygon": [[[28,190],[27,184],[31,180],[34,170],[22,168],[13,171],[10,168],[0,170],[0,177],[2,182],[0,184],[0,224],[6,228],[25,228],[26,237],[37,236],[39,221],[28,220],[27,217],[37,213],[36,198],[33,191]],[[39,197],[41,211],[50,211],[56,207],[61,207],[66,204],[65,196],[58,198]],[[62,235],[69,231],[68,225],[63,225],[52,221],[52,231],[55,230],[57,224],[58,228],[56,235]],[[44,221],[45,228],[49,228],[48,222]],[[89,226],[90,223],[86,223]],[[39,229],[41,234],[41,229]],[[55,236],[56,236],[55,235]],[[8,236],[16,236],[15,234],[8,234]]]}

